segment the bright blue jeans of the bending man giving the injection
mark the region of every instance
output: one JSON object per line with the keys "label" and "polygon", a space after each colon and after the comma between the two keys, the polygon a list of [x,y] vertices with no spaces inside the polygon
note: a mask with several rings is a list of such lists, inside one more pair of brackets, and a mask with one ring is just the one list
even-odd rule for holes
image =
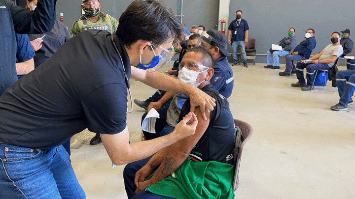
{"label": "bright blue jeans of the bending man giving the injection", "polygon": [[62,145],[47,151],[0,143],[0,199],[85,199]]}

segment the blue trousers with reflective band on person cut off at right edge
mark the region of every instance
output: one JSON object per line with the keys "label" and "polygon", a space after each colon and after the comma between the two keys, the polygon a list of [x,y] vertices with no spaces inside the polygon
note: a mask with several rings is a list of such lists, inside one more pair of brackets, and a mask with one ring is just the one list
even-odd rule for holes
{"label": "blue trousers with reflective band on person cut off at right edge", "polygon": [[340,96],[339,103],[348,106],[355,91],[355,70],[338,71],[336,82]]}

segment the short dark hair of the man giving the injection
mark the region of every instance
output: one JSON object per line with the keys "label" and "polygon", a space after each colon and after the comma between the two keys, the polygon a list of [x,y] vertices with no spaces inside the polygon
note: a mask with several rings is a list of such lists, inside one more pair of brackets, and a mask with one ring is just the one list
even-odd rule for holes
{"label": "short dark hair of the man giving the injection", "polygon": [[160,45],[171,37],[179,38],[183,28],[161,0],[135,0],[122,13],[116,34],[130,48],[138,40]]}

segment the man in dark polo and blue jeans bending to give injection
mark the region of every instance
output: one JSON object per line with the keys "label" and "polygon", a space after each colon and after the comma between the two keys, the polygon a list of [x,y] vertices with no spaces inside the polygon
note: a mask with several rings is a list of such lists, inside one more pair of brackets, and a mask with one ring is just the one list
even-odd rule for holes
{"label": "man in dark polo and blue jeans bending to give injection", "polygon": [[189,113],[171,135],[128,143],[129,77],[188,94],[194,98],[191,111],[199,105],[205,119],[213,110],[211,96],[152,72],[169,61],[181,34],[172,10],[161,1],[136,0],[123,12],[116,33],[79,33],[6,89],[0,96],[0,198],[85,198],[61,145],[85,128],[100,133],[115,165],[146,158],[193,135],[197,118]]}

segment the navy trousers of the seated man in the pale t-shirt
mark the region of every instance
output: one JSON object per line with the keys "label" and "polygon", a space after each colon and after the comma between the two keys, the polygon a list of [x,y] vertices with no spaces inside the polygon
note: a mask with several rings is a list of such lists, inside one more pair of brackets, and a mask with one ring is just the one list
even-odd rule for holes
{"label": "navy trousers of the seated man in the pale t-shirt", "polygon": [[322,69],[322,70],[329,70],[330,67],[327,64],[324,63],[314,63],[314,64],[305,64],[298,62],[296,66],[296,75],[297,79],[301,84],[306,84],[306,80],[304,79],[303,75],[303,69],[306,68],[307,70],[307,85],[313,85],[314,78],[316,76],[316,70]]}

